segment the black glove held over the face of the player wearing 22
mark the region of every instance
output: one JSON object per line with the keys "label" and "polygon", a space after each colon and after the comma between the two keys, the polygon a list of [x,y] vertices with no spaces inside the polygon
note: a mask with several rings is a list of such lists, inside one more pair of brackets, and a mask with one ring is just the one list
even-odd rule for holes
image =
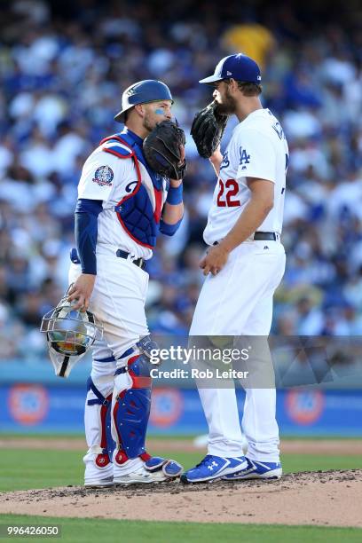
{"label": "black glove held over the face of the player wearing 22", "polygon": [[211,102],[195,114],[191,135],[196,144],[197,150],[203,158],[209,158],[223,138],[228,115],[216,113],[217,103]]}

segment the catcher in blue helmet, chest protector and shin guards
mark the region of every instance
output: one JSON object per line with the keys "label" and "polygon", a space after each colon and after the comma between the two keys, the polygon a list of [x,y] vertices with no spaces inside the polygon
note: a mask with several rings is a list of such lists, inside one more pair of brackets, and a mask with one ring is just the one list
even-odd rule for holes
{"label": "catcher in blue helmet, chest protector and shin guards", "polygon": [[91,153],[78,186],[67,302],[82,312],[91,303],[103,327],[85,403],[87,486],[154,483],[182,472],[145,449],[149,353],[157,348],[146,323],[145,265],[158,233],[172,236],[184,213],[185,134],[171,122],[172,104],[160,81],[130,85],[114,117],[124,129]]}

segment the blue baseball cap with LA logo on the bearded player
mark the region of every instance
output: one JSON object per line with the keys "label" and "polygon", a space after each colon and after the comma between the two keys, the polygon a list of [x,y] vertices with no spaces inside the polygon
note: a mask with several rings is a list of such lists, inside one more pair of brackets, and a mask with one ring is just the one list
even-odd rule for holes
{"label": "blue baseball cap with LA logo on the bearded player", "polygon": [[236,79],[245,83],[261,83],[262,75],[256,61],[238,53],[237,55],[229,55],[224,57],[217,64],[214,75],[209,75],[205,79],[201,79],[199,83],[207,85],[221,81],[222,79]]}

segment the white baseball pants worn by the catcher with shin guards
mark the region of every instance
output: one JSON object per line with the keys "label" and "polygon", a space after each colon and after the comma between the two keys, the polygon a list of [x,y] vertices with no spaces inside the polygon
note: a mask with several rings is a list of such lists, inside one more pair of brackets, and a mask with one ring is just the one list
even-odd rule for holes
{"label": "white baseball pants worn by the catcher with shin guards", "polygon": [[[116,248],[110,245],[98,246],[97,278],[91,295],[91,311],[104,328],[103,340],[95,343],[92,352],[91,378],[104,397],[113,392],[112,407],[118,392],[117,381],[124,381],[124,374],[114,379],[115,368],[125,366],[130,357],[113,362],[102,360],[121,357],[126,350],[149,334],[145,313],[148,273],[130,260],[115,256],[115,251]],[[80,274],[81,266],[72,263],[69,269],[69,284],[75,282]],[[123,383],[120,386],[123,387]],[[88,405],[88,400],[95,398],[94,393],[89,390],[84,409],[85,437],[89,450],[83,460],[86,464],[85,478],[88,480],[96,479],[100,473],[102,477],[112,475],[114,469],[112,464],[102,468],[93,461],[102,449],[101,406]],[[112,436],[116,441],[114,428]],[[138,458],[129,460],[127,466],[122,468],[122,473],[131,472],[137,469],[138,465],[141,465]]]}

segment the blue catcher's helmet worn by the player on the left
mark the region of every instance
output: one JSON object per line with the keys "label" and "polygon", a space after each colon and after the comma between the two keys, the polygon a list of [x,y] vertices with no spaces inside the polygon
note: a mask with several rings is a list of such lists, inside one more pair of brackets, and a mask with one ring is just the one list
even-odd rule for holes
{"label": "blue catcher's helmet worn by the player on the left", "polygon": [[122,110],[114,116],[114,121],[124,122],[124,114],[131,107],[156,100],[171,100],[173,103],[171,91],[165,83],[155,79],[145,79],[133,83],[123,92]]}

